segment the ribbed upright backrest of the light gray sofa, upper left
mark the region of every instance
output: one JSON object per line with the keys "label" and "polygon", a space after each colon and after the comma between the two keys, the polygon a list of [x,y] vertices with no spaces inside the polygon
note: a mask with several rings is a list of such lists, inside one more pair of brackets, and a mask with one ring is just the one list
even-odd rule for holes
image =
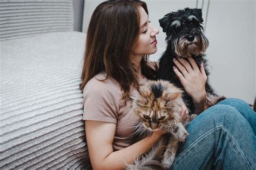
{"label": "ribbed upright backrest of the light gray sofa, upper left", "polygon": [[73,31],[71,0],[1,0],[0,41]]}

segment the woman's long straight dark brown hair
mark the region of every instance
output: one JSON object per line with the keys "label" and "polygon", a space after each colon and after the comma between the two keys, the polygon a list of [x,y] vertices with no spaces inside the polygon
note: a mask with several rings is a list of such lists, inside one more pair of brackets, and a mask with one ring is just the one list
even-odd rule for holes
{"label": "woman's long straight dark brown hair", "polygon": [[[106,79],[118,81],[124,99],[130,98],[131,85],[138,89],[137,70],[130,56],[139,37],[139,6],[148,13],[141,1],[106,1],[97,6],[87,30],[81,90],[101,71],[106,72]],[[147,57],[141,62],[142,74],[152,79],[155,71],[147,66]]]}

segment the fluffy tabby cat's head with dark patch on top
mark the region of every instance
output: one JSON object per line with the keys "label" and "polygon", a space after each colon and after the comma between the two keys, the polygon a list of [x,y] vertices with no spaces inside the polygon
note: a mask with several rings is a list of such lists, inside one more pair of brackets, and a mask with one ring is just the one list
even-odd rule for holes
{"label": "fluffy tabby cat's head with dark patch on top", "polygon": [[178,119],[183,91],[168,81],[147,81],[133,97],[133,111],[151,131],[159,130],[170,119]]}

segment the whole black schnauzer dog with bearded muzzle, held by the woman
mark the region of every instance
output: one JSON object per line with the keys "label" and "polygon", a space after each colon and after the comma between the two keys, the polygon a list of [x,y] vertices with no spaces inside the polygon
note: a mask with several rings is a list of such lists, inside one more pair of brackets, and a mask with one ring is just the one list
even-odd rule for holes
{"label": "whole black schnauzer dog with bearded muzzle, held by the woman", "polygon": [[[159,19],[159,23],[163,31],[166,32],[167,49],[159,60],[157,79],[169,80],[174,85],[184,89],[173,71],[173,66],[175,66],[173,58],[176,57],[182,57],[186,60],[188,57],[192,57],[199,68],[201,62],[204,62],[204,69],[208,76],[207,60],[204,55],[208,47],[208,40],[203,34],[201,9],[185,8],[177,12],[170,12]],[[225,99],[214,92],[208,80],[205,89],[205,109]],[[192,98],[184,93],[183,99],[190,113],[193,113],[195,108]]]}

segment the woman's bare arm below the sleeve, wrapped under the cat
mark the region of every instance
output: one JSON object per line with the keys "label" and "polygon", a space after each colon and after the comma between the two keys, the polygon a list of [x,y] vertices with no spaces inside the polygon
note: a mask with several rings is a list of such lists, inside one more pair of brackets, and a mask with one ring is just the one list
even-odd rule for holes
{"label": "woman's bare arm below the sleeve, wrapped under the cat", "polygon": [[86,141],[93,169],[124,169],[124,160],[132,163],[140,153],[149,151],[161,137],[153,133],[135,144],[113,152],[116,124],[102,121],[85,120]]}

